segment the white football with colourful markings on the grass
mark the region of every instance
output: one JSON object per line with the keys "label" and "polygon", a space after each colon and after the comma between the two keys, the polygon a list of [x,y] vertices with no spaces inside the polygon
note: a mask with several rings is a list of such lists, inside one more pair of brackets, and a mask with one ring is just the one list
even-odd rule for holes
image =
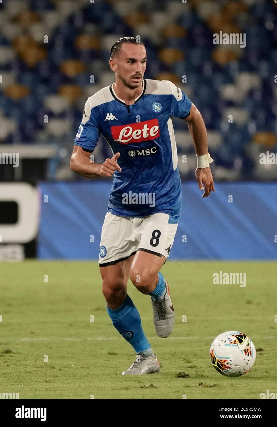
{"label": "white football with colourful markings on the grass", "polygon": [[240,377],[256,359],[255,345],[245,333],[229,330],[218,335],[210,348],[212,366],[226,377]]}

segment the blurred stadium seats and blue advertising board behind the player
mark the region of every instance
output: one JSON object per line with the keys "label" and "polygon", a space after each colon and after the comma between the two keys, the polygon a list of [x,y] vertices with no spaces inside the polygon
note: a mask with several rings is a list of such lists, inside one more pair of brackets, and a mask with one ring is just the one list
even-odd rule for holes
{"label": "blurred stadium seats and blue advertising board behind the player", "polygon": [[[220,31],[245,33],[245,48],[213,44]],[[171,258],[276,258],[277,165],[259,161],[277,153],[274,0],[3,0],[0,153],[19,153],[19,166],[0,165],[0,260],[97,259],[112,183],[74,174],[69,159],[85,101],[114,82],[110,48],[126,35],[145,44],[144,77],[171,80],[199,108],[214,159],[206,203],[186,182],[195,153],[174,119],[184,209]],[[102,137],[93,154],[110,156]]]}

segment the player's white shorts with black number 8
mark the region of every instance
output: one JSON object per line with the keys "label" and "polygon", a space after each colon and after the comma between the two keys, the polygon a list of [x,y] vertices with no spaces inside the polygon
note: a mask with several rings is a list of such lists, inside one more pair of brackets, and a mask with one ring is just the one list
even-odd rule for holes
{"label": "player's white shorts with black number 8", "polygon": [[126,260],[137,251],[168,258],[178,222],[168,223],[168,213],[154,213],[143,218],[117,216],[107,212],[101,234],[99,265]]}

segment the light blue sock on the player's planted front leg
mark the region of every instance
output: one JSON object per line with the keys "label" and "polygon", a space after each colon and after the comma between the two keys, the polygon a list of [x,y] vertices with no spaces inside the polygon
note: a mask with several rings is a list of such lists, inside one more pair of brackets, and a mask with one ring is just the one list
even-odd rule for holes
{"label": "light blue sock on the player's planted front leg", "polygon": [[115,329],[118,330],[126,341],[130,342],[136,353],[151,348],[143,332],[139,312],[129,295],[127,295],[127,298],[120,307],[115,310],[107,307],[107,312],[112,319]]}

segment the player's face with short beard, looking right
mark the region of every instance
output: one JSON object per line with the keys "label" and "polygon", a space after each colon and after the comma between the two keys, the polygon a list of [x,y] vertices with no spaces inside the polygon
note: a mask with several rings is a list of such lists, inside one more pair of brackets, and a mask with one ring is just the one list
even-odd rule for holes
{"label": "player's face with short beard, looking right", "polygon": [[123,43],[114,58],[114,71],[125,86],[136,89],[146,70],[146,50],[142,44]]}

